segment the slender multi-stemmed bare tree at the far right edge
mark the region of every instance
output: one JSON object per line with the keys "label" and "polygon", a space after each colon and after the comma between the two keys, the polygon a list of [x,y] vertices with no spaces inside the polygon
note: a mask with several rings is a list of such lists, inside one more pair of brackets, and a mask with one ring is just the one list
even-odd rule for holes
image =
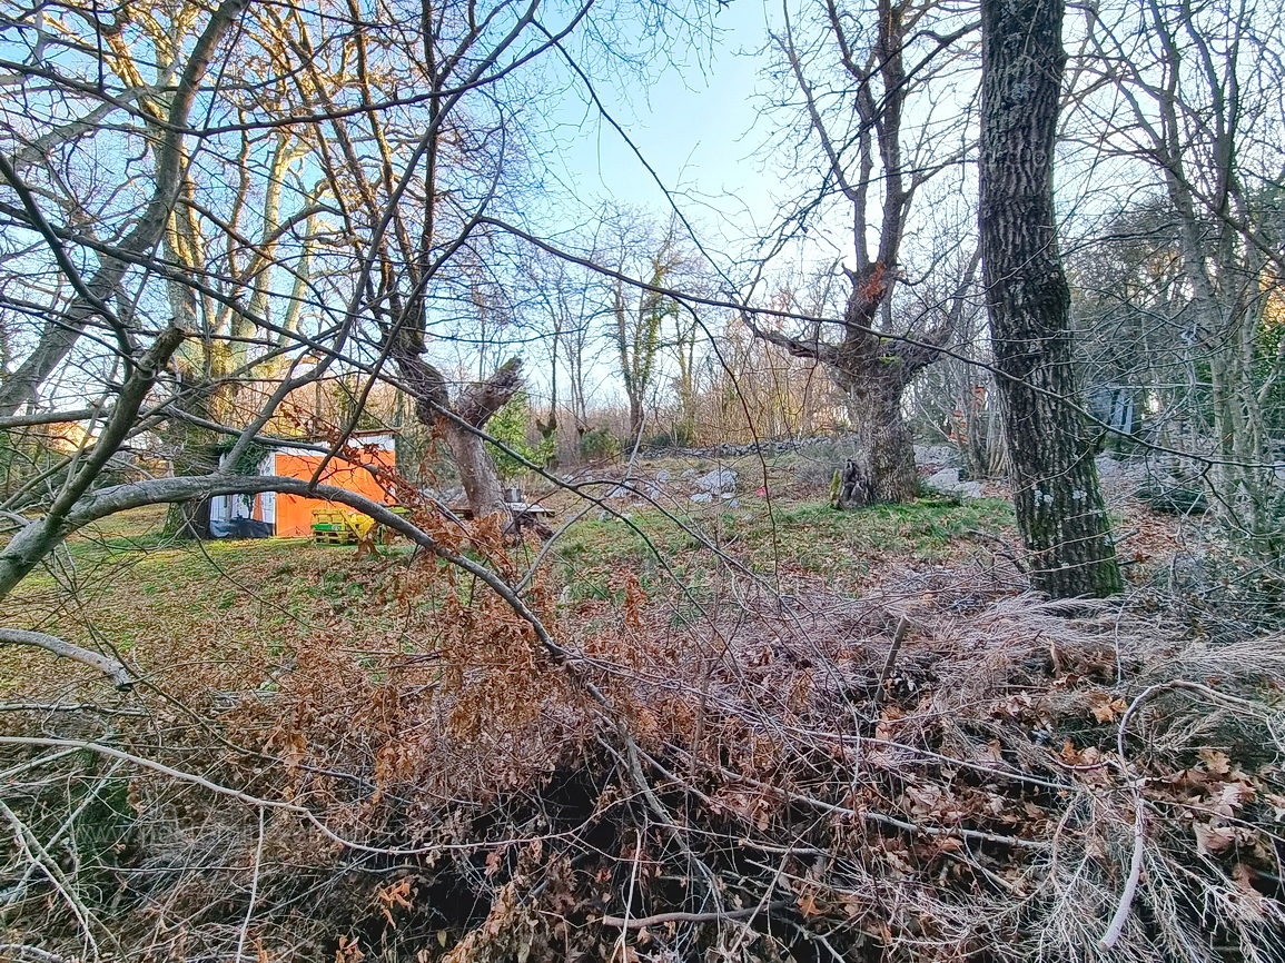
{"label": "slender multi-stemmed bare tree at the far right edge", "polygon": [[1285,162],[1281,28],[1279,6],[1253,0],[1108,6],[1087,23],[1083,73],[1110,96],[1077,100],[1097,150],[1127,158],[1163,198],[1155,213],[1183,288],[1164,340],[1182,345],[1189,424],[1208,411],[1195,439],[1167,440],[1204,461],[1225,529],[1268,559],[1285,547],[1268,428],[1285,356],[1267,343],[1266,313],[1285,273],[1272,222]]}

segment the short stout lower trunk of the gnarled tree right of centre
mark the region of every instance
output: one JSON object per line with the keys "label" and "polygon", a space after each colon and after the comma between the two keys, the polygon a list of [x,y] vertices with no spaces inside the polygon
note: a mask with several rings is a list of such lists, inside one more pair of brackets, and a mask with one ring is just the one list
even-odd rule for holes
{"label": "short stout lower trunk of the gnarled tree right of centre", "polygon": [[906,383],[900,370],[867,372],[849,395],[860,452],[844,465],[835,508],[905,502],[919,493],[915,447],[901,415]]}

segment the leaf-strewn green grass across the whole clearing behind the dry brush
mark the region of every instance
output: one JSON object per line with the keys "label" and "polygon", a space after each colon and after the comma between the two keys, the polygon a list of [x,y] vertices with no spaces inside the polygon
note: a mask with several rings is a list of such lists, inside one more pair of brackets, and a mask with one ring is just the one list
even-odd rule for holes
{"label": "leaf-strewn green grass across the whole clearing behind the dry brush", "polygon": [[[553,553],[568,601],[618,605],[625,571],[649,593],[675,588],[671,577],[699,593],[714,566],[709,546],[761,575],[857,591],[893,562],[966,559],[978,551],[970,532],[1013,532],[1011,507],[995,498],[921,498],[848,512],[780,498],[771,514],[757,498],[736,508],[691,507],[681,524],[648,506],[628,510],[627,520],[589,516],[573,525]],[[403,636],[407,616],[383,597],[379,560],[355,565],[352,547],[308,539],[175,543],[159,534],[163,520],[163,511],[130,512],[78,533],[54,560],[58,577],[33,573],[6,600],[3,618],[82,645],[105,641],[140,665],[164,661],[167,648],[193,638],[229,664],[254,664],[288,655],[301,634],[319,628],[342,625],[357,648]],[[414,615],[430,618],[436,607],[429,594]],[[39,673],[32,656],[0,651],[0,692]]]}

